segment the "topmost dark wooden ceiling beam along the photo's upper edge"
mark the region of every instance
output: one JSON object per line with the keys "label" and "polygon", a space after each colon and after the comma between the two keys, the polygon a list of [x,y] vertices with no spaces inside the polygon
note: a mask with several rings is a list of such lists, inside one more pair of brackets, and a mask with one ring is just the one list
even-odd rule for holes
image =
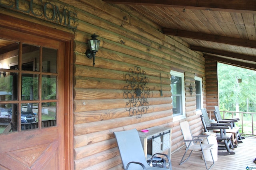
{"label": "topmost dark wooden ceiling beam along the photo's upper edge", "polygon": [[255,12],[255,0],[103,0],[112,4],[181,7],[197,10]]}

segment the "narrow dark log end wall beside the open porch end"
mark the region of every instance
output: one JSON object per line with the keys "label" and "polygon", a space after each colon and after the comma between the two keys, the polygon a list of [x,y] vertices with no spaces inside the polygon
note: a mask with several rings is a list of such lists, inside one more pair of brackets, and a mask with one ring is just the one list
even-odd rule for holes
{"label": "narrow dark log end wall beside the open porch end", "polygon": [[214,106],[218,106],[218,73],[217,61],[206,59],[205,61],[206,74],[206,109],[211,117],[214,116]]}

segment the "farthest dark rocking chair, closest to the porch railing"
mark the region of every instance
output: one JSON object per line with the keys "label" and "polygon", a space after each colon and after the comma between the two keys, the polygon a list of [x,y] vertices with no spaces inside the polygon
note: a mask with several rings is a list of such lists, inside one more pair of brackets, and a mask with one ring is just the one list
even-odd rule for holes
{"label": "farthest dark rocking chair, closest to the porch railing", "polygon": [[222,119],[222,117],[220,115],[219,107],[214,106],[214,108],[215,108],[214,115],[215,115],[216,121],[218,123],[228,123],[228,122],[230,122],[231,127],[230,127],[230,129],[227,129],[226,132],[234,133],[236,135],[236,138],[237,138],[237,143],[243,143],[242,141],[239,141],[239,140],[244,139],[244,137],[242,137],[239,133],[240,127],[237,127],[235,125],[235,122],[238,122],[238,120],[240,120],[240,119],[239,118]]}

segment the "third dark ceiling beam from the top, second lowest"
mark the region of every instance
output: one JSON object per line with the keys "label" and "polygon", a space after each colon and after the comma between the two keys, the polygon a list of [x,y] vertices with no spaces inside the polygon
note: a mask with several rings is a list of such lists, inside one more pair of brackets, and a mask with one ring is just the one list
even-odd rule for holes
{"label": "third dark ceiling beam from the top, second lowest", "polygon": [[203,52],[203,53],[222,55],[222,56],[226,56],[226,57],[232,57],[232,58],[235,58],[235,59],[241,59],[241,60],[255,61],[256,62],[256,57],[250,56],[250,55],[230,53],[230,52],[227,52],[227,51],[220,51],[220,50],[216,50],[216,49],[209,49],[209,48],[198,47],[198,46],[194,46],[194,45],[191,45],[190,49],[194,50],[194,51],[200,51],[200,52]]}

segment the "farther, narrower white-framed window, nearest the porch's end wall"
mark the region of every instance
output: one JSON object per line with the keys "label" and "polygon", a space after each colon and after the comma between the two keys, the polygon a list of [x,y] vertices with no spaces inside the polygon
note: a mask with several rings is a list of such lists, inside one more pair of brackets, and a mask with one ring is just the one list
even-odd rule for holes
{"label": "farther, narrower white-framed window, nearest the porch's end wall", "polygon": [[202,78],[195,76],[196,80],[196,111],[203,108],[203,87]]}

